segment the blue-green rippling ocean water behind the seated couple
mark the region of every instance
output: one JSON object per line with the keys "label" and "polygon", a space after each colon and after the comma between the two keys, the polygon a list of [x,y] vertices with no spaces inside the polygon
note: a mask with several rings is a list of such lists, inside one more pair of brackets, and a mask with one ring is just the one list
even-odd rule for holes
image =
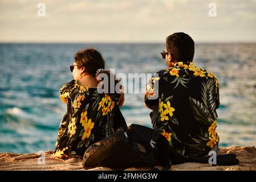
{"label": "blue-green rippling ocean water behind the seated couple", "polygon": [[[94,47],[115,73],[155,73],[166,67],[165,44],[0,44],[0,152],[54,150],[66,105],[59,88],[72,80],[68,65]],[[220,82],[220,146],[256,145],[256,43],[196,44],[194,63]],[[143,94],[126,94],[128,125],[151,127]]]}

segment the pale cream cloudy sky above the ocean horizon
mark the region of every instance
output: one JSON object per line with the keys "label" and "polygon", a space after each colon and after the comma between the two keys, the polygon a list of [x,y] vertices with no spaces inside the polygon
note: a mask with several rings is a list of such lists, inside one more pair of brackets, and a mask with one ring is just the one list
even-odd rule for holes
{"label": "pale cream cloudy sky above the ocean horizon", "polygon": [[0,0],[0,42],[164,43],[174,32],[256,42],[256,0]]}

